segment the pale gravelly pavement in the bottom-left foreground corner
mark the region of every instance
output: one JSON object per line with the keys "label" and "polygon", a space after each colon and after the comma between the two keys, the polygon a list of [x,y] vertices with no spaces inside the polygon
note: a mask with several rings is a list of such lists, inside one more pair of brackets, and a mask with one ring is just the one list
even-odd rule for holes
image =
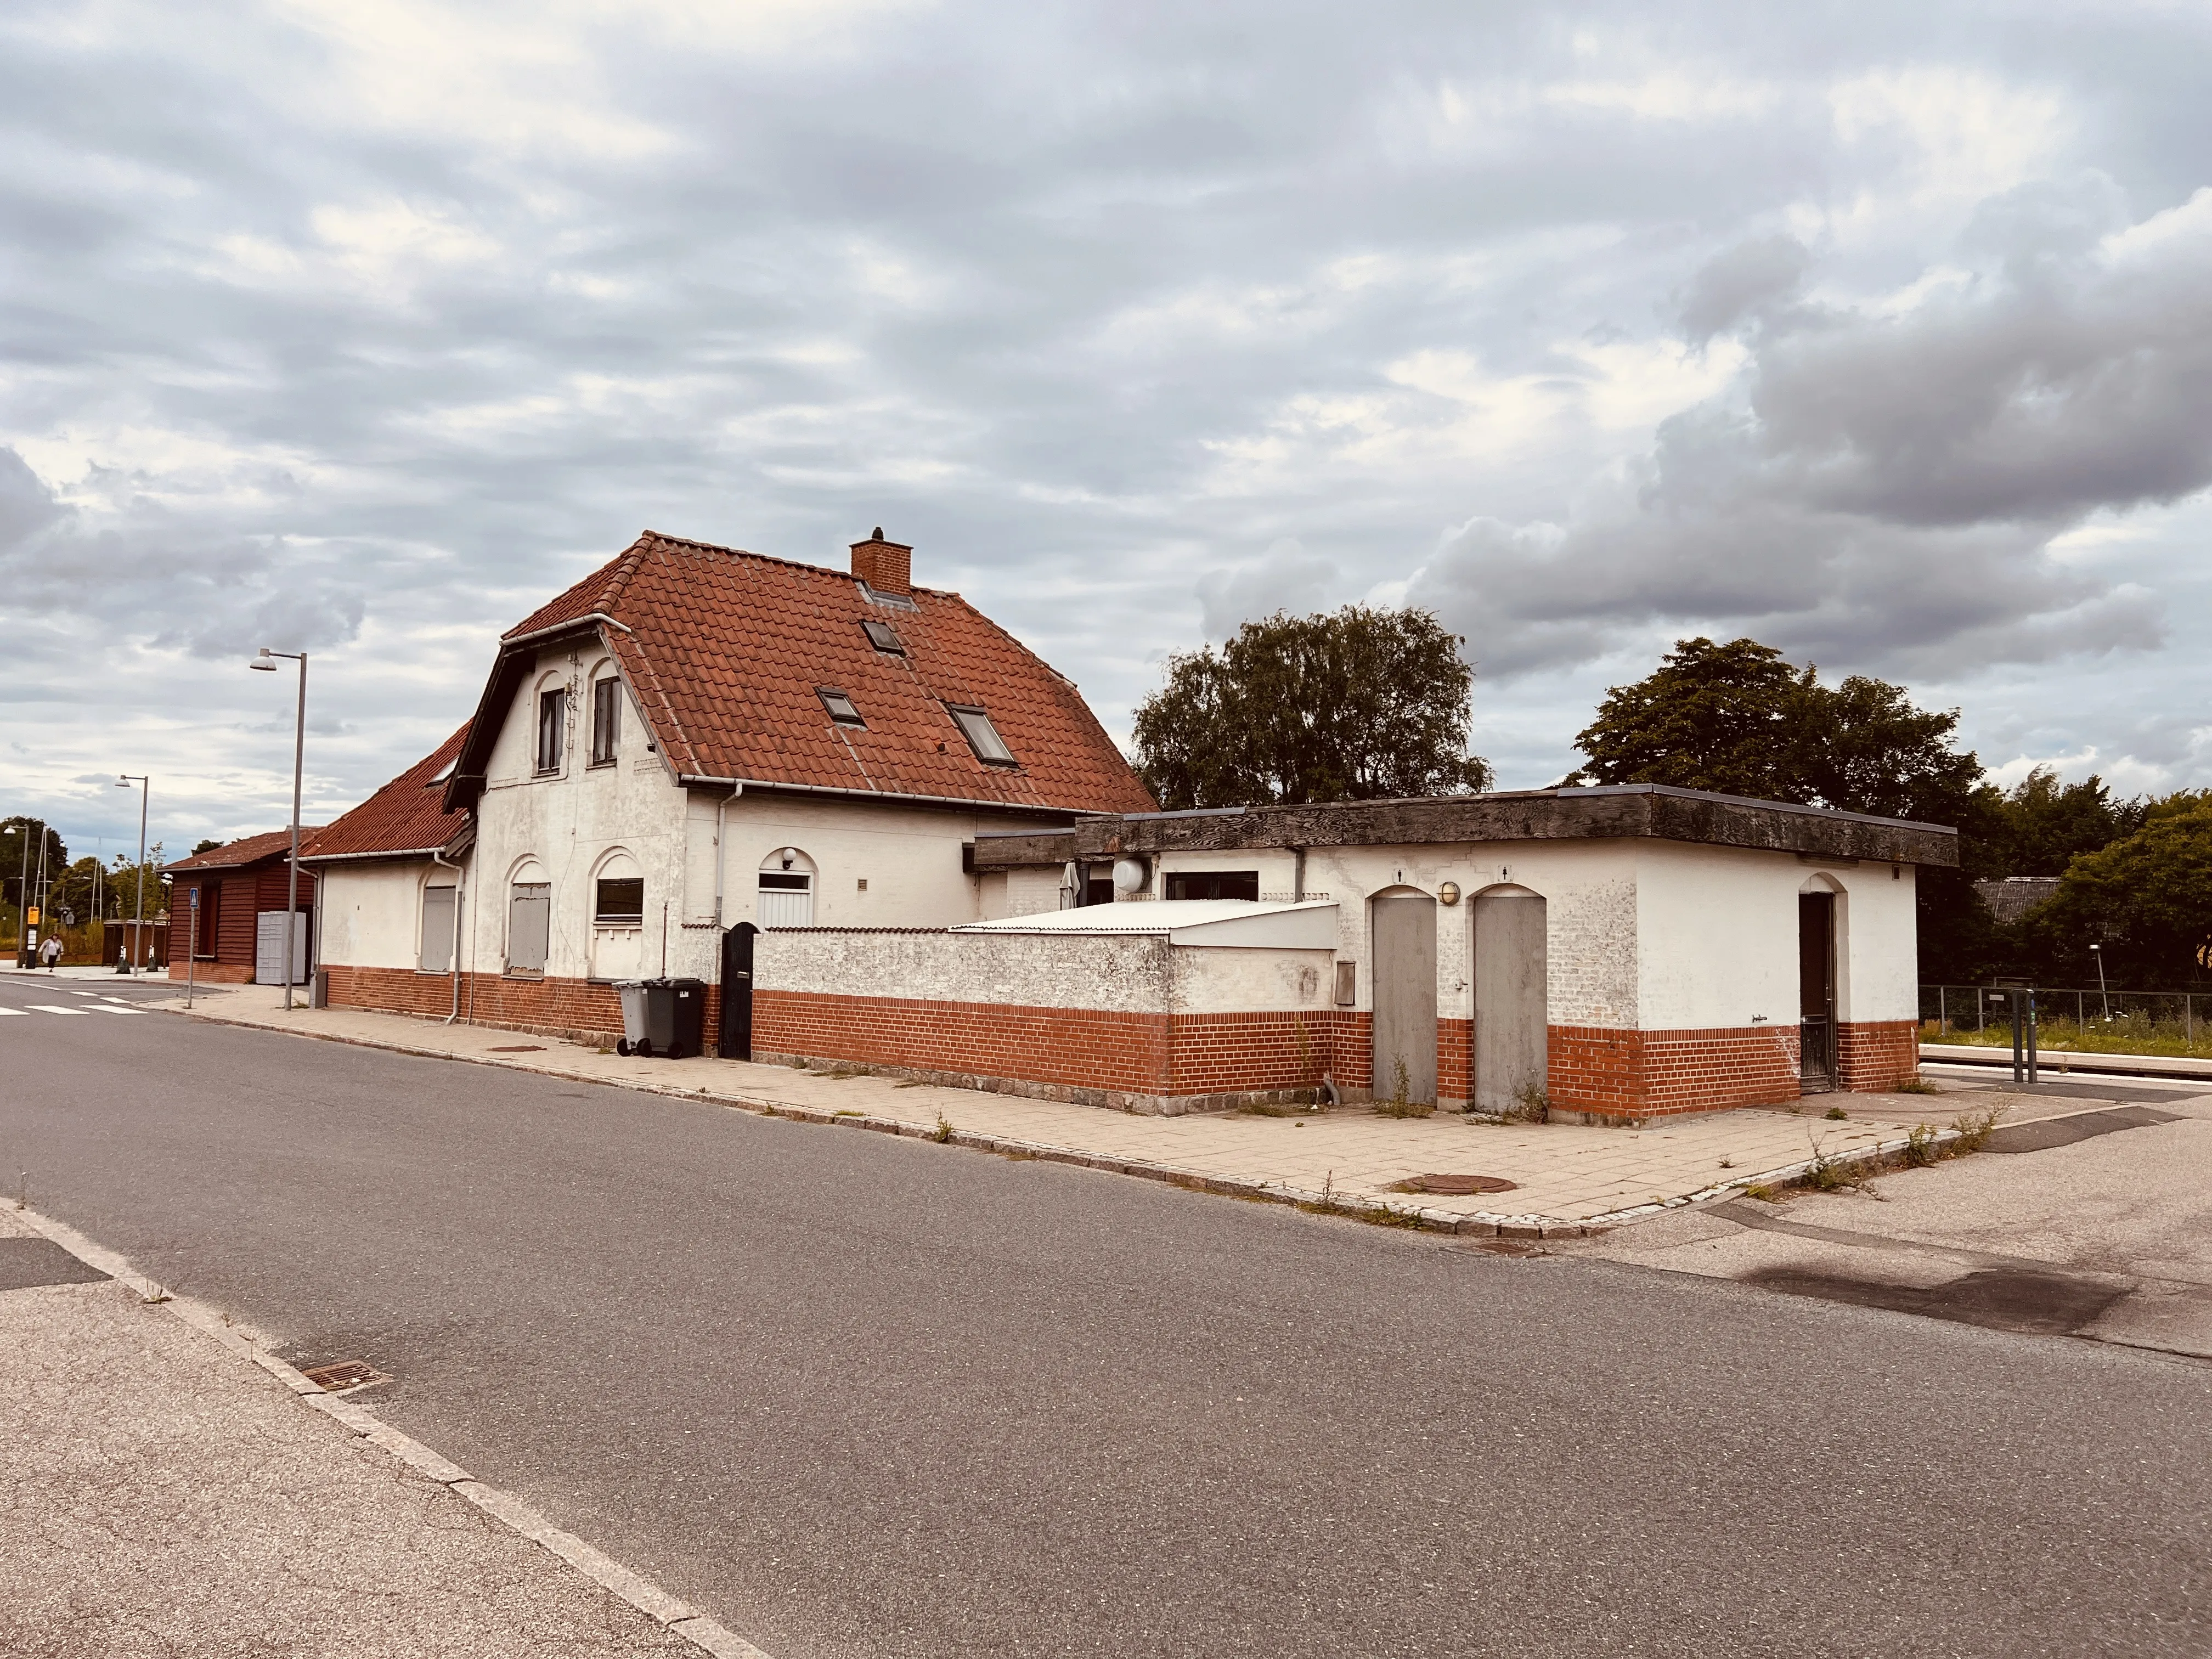
{"label": "pale gravelly pavement in the bottom-left foreground corner", "polygon": [[49,1232],[71,1237],[0,1208],[0,1652],[761,1659],[611,1562],[586,1577],[566,1535],[378,1425],[374,1389],[254,1363]]}

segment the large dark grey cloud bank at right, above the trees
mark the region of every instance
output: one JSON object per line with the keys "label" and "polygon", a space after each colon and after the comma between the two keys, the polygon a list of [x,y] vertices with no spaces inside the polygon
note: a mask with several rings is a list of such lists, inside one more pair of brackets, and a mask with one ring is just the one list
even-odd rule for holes
{"label": "large dark grey cloud bank at right, above the trees", "polygon": [[[2051,542],[2212,484],[2205,237],[2112,257],[2088,197],[2086,217],[2051,210],[2079,192],[1984,215],[1984,246],[2011,228],[2006,268],[1900,316],[1770,316],[1741,392],[1661,422],[1632,489],[1564,526],[1475,520],[1413,595],[1506,675],[1657,626],[1909,672],[2159,648],[2157,593]],[[1714,299],[1701,323],[1725,316]]]}

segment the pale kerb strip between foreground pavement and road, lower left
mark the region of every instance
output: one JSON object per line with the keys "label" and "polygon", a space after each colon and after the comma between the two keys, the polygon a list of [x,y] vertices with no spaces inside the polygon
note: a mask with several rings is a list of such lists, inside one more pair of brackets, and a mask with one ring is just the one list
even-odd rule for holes
{"label": "pale kerb strip between foreground pavement and road, lower left", "polygon": [[[42,1009],[42,1011],[84,1013],[84,1009]],[[20,1013],[20,1009],[7,1009],[7,1013]],[[102,1009],[102,1013],[117,1013],[117,1009]],[[58,1245],[62,1245],[62,1250],[73,1254],[77,1261],[97,1267],[100,1272],[108,1274],[108,1279],[113,1279],[115,1283],[137,1292],[139,1301],[166,1305],[177,1318],[181,1318],[192,1329],[212,1336],[232,1354],[252,1360],[263,1371],[270,1371],[279,1383],[283,1383],[299,1396],[301,1405],[321,1411],[325,1418],[332,1418],[347,1433],[369,1440],[372,1444],[380,1447],[389,1455],[405,1462],[416,1473],[436,1480],[449,1493],[467,1498],[487,1515],[493,1515],[522,1537],[562,1557],[568,1566],[588,1577],[602,1590],[628,1601],[633,1608],[650,1617],[655,1624],[666,1626],[672,1635],[684,1637],[695,1648],[714,1655],[714,1659],[770,1659],[761,1648],[754,1648],[750,1641],[745,1641],[728,1626],[719,1624],[717,1619],[710,1619],[706,1613],[690,1606],[688,1601],[679,1601],[677,1597],[668,1595],[668,1590],[664,1590],[659,1584],[644,1577],[641,1573],[630,1571],[615,1557],[595,1551],[575,1533],[562,1531],[544,1515],[540,1515],[535,1509],[524,1504],[520,1498],[504,1493],[498,1486],[487,1486],[484,1482],[471,1478],[467,1469],[440,1458],[420,1440],[400,1433],[376,1413],[363,1411],[349,1400],[338,1400],[330,1396],[330,1391],[323,1389],[305,1371],[285,1365],[281,1358],[257,1347],[243,1334],[232,1329],[230,1321],[215,1307],[208,1307],[206,1303],[192,1298],[170,1296],[164,1285],[131,1272],[131,1265],[128,1261],[124,1261],[124,1256],[108,1250],[106,1245],[93,1243],[82,1232],[71,1228],[66,1221],[55,1221],[53,1217],[44,1217],[38,1210],[22,1210],[22,1208],[18,1208],[13,1214],[22,1219],[33,1232],[42,1232],[44,1237],[53,1239]]]}

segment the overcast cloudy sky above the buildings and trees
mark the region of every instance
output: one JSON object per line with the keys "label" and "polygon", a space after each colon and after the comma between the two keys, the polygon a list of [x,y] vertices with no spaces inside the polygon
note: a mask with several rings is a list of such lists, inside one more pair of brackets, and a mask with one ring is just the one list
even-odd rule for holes
{"label": "overcast cloudy sky above the buildings and trees", "polygon": [[1117,734],[1276,606],[1502,785],[1750,633],[2212,783],[2212,9],[0,9],[0,812],[307,818],[650,526],[872,526]]}

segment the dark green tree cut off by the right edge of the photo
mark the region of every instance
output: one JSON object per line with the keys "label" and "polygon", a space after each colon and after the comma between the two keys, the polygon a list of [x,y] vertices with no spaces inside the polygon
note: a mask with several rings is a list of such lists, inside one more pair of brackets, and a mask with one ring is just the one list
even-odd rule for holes
{"label": "dark green tree cut off by the right edge of the photo", "polygon": [[2212,969],[2212,790],[2152,801],[2135,834],[2077,854],[2057,898],[2031,911],[2024,929],[2059,975],[2086,978],[2088,947],[2099,945],[2115,984],[2163,991],[2203,980]]}

